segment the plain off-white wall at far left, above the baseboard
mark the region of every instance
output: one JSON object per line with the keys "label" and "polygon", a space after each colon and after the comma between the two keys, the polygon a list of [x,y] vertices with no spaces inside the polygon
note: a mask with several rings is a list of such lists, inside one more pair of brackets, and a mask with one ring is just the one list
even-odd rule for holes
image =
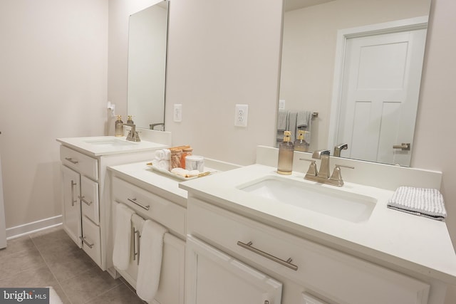
{"label": "plain off-white wall at far left, above the baseboard", "polygon": [[103,135],[108,1],[0,1],[6,227],[61,214],[57,137]]}

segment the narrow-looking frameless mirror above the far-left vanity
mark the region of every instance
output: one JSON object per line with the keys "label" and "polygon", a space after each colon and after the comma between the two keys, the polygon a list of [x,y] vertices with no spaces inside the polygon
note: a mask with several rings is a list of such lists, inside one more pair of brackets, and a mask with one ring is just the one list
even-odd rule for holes
{"label": "narrow-looking frameless mirror above the far-left vanity", "polygon": [[168,5],[161,1],[129,21],[128,115],[145,129],[165,130]]}

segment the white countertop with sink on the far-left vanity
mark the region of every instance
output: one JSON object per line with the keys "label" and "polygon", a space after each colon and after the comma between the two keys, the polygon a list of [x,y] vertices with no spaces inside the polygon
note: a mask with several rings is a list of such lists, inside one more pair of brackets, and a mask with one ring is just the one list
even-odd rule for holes
{"label": "white countertop with sink on the far-left vanity", "polygon": [[[147,150],[157,150],[167,147],[166,145],[158,144],[156,142],[147,142],[142,140],[140,142],[130,142],[126,137],[115,136],[98,136],[98,137],[66,137],[58,138],[58,142],[62,145],[71,147],[75,150],[94,157],[109,154],[121,154],[129,152],[140,152]],[[115,142],[118,145],[103,145],[103,142]],[[92,143],[90,143],[92,142]]]}

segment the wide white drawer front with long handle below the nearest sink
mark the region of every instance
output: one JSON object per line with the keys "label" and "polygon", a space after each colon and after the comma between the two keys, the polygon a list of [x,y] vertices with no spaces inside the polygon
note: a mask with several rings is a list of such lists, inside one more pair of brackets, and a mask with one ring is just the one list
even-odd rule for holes
{"label": "wide white drawer front with long handle below the nearest sink", "polygon": [[[336,303],[427,303],[430,285],[190,197],[189,233]],[[249,246],[242,246],[241,243]],[[249,242],[252,242],[249,244]],[[292,261],[287,262],[291,258]],[[281,260],[281,261],[279,261]],[[292,265],[291,265],[292,264]],[[289,266],[289,267],[288,267]],[[297,266],[297,269],[291,269]]]}

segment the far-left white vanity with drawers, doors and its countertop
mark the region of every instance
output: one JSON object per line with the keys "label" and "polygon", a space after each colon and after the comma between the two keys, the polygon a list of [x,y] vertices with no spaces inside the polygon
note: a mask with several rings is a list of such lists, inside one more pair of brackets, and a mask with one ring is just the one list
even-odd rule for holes
{"label": "far-left white vanity with drawers, doors and its countertop", "polygon": [[[129,142],[125,137],[59,138],[61,158],[63,229],[90,258],[107,270],[110,236],[110,187],[106,168],[115,164],[152,159],[163,143]],[[170,140],[169,140],[170,141]]]}

